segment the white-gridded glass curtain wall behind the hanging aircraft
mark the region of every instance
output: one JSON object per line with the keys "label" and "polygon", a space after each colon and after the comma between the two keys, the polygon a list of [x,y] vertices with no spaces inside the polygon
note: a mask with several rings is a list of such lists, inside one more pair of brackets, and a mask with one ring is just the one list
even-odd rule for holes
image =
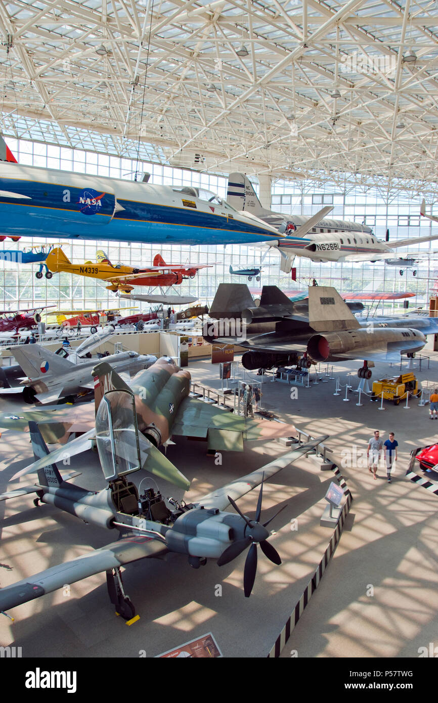
{"label": "white-gridded glass curtain wall behind the hanging aircraft", "polygon": [[[70,149],[49,144],[7,138],[18,162],[24,165],[62,169],[65,171],[98,174],[112,178],[134,180],[137,163],[129,158],[119,158],[112,155],[92,151]],[[150,183],[168,186],[200,186],[226,197],[227,179],[224,176],[204,174],[186,169],[177,169],[147,162],[141,162],[140,169],[150,173]],[[254,183],[258,192],[257,181]],[[420,202],[411,200],[408,193],[392,195],[386,191],[361,188],[349,188],[343,193],[339,188],[316,186],[310,181],[290,183],[275,181],[272,186],[272,209],[284,214],[302,214],[311,216],[324,205],[333,205],[333,211],[328,217],[334,219],[354,219],[373,228],[376,236],[385,239],[389,229],[389,240],[397,238],[416,238],[430,233],[432,225],[426,219],[420,220]],[[46,240],[53,243],[53,240]],[[40,247],[45,242],[42,238],[25,238],[13,244],[5,240],[0,245],[3,249],[24,247]],[[437,240],[438,254],[438,240]],[[413,269],[400,269],[389,266],[384,262],[361,264],[319,264],[309,259],[295,259],[297,282],[291,276],[281,273],[279,254],[269,250],[265,254],[264,247],[247,247],[239,245],[189,247],[184,245],[152,245],[148,243],[115,243],[104,240],[96,242],[63,242],[63,250],[67,257],[75,263],[96,261],[96,251],[105,250],[108,258],[114,264],[138,267],[152,265],[153,257],[161,253],[166,263],[179,264],[211,264],[211,268],[202,269],[192,280],[184,281],[178,287],[181,295],[193,295],[200,302],[212,302],[214,292],[221,282],[245,283],[245,278],[232,276],[229,267],[247,269],[259,266],[262,261],[266,266],[262,271],[262,280],[252,280],[248,285],[257,295],[262,284],[279,285],[281,290],[305,290],[312,278],[320,285],[334,285],[341,293],[348,292],[404,292],[416,294],[410,307],[427,307],[428,297],[434,294],[435,271],[434,243],[425,243],[411,247],[410,254],[420,252],[427,254],[420,259]],[[264,258],[263,258],[264,257]],[[32,307],[32,305],[54,304],[59,309],[97,309],[111,307],[128,307],[129,302],[115,297],[114,293],[106,290],[105,283],[80,276],[62,273],[54,274],[50,280],[35,278],[38,265],[34,266],[0,263],[0,305],[3,309]],[[438,269],[438,266],[437,266]],[[403,270],[403,276],[399,271]],[[417,271],[416,276],[413,271]],[[136,288],[134,292],[145,292]],[[159,290],[151,291],[155,294]],[[139,308],[147,308],[148,304],[135,303]],[[401,304],[397,304],[401,307]],[[394,305],[385,308],[392,311]]]}

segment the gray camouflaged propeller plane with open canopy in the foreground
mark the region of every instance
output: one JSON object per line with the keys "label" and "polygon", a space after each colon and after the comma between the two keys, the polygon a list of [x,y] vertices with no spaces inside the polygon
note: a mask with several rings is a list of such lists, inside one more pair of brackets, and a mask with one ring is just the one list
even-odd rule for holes
{"label": "gray camouflaged propeller plane with open canopy in the foreground", "polygon": [[[104,368],[96,368],[96,373],[108,375],[108,367],[101,366]],[[178,373],[181,374],[176,372],[171,377],[176,385],[184,378],[183,375],[178,377]],[[266,529],[278,513],[261,522],[263,482],[327,438],[319,437],[303,444],[255,472],[203,496],[197,503],[179,503],[169,498],[167,504],[160,491],[147,488],[141,493],[131,480],[132,475],[136,476],[137,483],[147,478],[146,470],[156,473],[154,464],[162,456],[153,435],[148,441],[139,432],[137,420],[144,421],[145,415],[143,411],[139,418],[137,400],[129,389],[108,389],[103,396],[96,415],[96,444],[108,486],[98,493],[70,484],[68,480],[77,474],[60,475],[55,463],[59,452],[49,453],[36,423],[31,421],[34,456],[39,460],[27,472],[37,472],[37,482],[1,494],[0,501],[35,493],[35,505],[39,502],[56,505],[86,522],[119,531],[121,535],[128,532],[129,536],[1,588],[0,612],[6,614],[7,610],[56,591],[65,583],[75,583],[105,571],[110,600],[117,614],[129,621],[134,617],[135,609],[124,591],[121,567],[141,559],[162,558],[167,552],[186,555],[189,564],[197,569],[207,559],[216,559],[219,566],[227,564],[249,547],[243,579],[246,597],[250,596],[255,582],[257,546],[271,562],[281,564],[276,549],[267,541],[269,531]],[[262,486],[256,515],[250,520],[238,508],[236,500],[259,484]],[[237,515],[225,512],[228,505],[233,506]]]}

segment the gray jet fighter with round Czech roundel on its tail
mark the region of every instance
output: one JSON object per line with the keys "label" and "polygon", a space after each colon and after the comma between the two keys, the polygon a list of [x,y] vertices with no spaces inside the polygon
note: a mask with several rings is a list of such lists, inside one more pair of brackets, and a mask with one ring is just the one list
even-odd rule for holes
{"label": "gray jet fighter with round Czech roundel on its tail", "polygon": [[[94,388],[91,370],[96,366],[96,359],[86,359],[75,363],[68,358],[65,349],[54,354],[39,344],[22,344],[11,347],[10,352],[27,376],[19,386],[0,388],[0,394],[21,393],[26,403],[51,403],[59,398],[74,400],[75,396]],[[65,356],[63,356],[65,354]],[[134,375],[142,368],[148,368],[157,361],[151,354],[137,352],[120,352],[105,357],[112,368],[117,368]]]}

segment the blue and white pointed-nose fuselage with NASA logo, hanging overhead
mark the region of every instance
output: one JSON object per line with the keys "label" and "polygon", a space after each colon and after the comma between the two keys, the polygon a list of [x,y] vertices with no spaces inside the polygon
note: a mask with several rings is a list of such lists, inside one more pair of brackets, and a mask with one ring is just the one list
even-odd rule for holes
{"label": "blue and white pointed-nose fuselage with NASA logo, hanging overhead", "polygon": [[178,244],[278,240],[271,225],[202,188],[0,165],[0,233]]}

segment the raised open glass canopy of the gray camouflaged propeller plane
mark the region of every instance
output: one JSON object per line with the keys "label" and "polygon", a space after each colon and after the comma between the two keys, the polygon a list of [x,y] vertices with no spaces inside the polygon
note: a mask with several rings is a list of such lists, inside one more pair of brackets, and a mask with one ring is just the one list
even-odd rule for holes
{"label": "raised open glass canopy of the gray camouflaged propeller plane", "polygon": [[103,396],[96,413],[96,444],[107,481],[141,468],[135,400],[129,391]]}

